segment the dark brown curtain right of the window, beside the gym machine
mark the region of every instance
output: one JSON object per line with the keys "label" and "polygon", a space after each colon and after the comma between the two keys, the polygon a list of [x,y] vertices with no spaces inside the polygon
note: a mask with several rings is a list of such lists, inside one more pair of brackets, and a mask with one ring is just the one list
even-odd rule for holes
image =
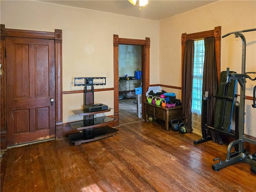
{"label": "dark brown curtain right of the window, beside the gym machine", "polygon": [[[204,38],[204,74],[203,74],[203,88],[202,94],[204,95],[206,91],[208,91],[208,101],[207,101],[207,110],[206,114],[203,114],[202,110],[202,118],[206,119],[206,124],[209,126],[213,126],[214,124],[214,111],[215,111],[215,101],[214,95],[217,94],[218,91],[218,74],[217,74],[217,66],[216,66],[216,54],[215,54],[215,38],[207,37]],[[204,131],[204,125],[202,124],[202,132]],[[218,142],[219,144],[223,144],[222,138],[216,132],[210,131],[207,133],[212,137],[214,142]]]}

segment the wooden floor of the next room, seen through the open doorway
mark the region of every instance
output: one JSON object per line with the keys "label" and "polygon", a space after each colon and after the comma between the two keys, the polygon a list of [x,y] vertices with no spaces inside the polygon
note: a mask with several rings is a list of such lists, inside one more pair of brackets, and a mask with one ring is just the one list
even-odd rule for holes
{"label": "wooden floor of the next room, seen through the open doorway", "polygon": [[134,101],[136,98],[119,100],[119,125],[143,120],[138,118],[137,104]]}

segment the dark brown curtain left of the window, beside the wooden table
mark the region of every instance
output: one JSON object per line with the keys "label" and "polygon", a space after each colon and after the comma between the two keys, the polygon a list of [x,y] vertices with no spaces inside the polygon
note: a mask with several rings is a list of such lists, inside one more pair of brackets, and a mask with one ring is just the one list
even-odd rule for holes
{"label": "dark brown curtain left of the window, beside the wooden table", "polygon": [[192,84],[194,68],[194,40],[187,40],[184,51],[183,84],[182,84],[182,118],[186,124],[186,132],[192,132]]}

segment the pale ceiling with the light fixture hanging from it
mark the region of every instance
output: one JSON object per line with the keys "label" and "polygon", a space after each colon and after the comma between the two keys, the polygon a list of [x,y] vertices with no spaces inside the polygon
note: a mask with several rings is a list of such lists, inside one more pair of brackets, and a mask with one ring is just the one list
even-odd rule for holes
{"label": "pale ceiling with the light fixture hanging from it", "polygon": [[42,0],[55,4],[80,7],[115,14],[162,20],[204,6],[218,0],[149,0],[144,7],[132,5],[128,0]]}

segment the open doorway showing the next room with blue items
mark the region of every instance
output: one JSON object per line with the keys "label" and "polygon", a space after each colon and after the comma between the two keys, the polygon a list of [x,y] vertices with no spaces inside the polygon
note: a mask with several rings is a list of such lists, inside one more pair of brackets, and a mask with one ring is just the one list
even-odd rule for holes
{"label": "open doorway showing the next room with blue items", "polygon": [[118,46],[119,124],[141,120],[137,113],[135,89],[142,86],[142,46]]}

